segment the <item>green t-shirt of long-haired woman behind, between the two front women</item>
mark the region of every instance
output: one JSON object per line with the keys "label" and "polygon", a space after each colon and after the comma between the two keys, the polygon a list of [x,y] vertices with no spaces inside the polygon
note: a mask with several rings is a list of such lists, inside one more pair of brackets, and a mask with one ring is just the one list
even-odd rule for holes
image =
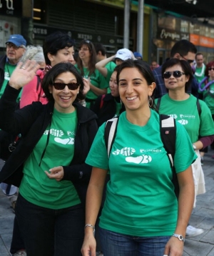
{"label": "green t-shirt of long-haired woman behind, between the two front women", "polygon": [[[77,65],[75,65],[76,69],[78,70],[79,73],[81,73],[80,69],[78,69]],[[95,69],[93,74],[89,76],[89,71],[87,68],[83,67],[83,77],[87,78],[90,77],[91,84],[93,84],[95,87],[98,87],[100,89],[108,88],[108,83],[106,82],[105,77],[98,72],[98,69]],[[89,100],[96,100],[98,96],[89,90],[89,92],[86,94],[86,98]],[[86,102],[86,107],[90,107],[90,102]]]}

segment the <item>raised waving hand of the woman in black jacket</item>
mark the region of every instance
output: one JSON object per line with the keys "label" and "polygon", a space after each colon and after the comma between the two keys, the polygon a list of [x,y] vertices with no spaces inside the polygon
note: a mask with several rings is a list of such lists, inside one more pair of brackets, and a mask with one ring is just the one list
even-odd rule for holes
{"label": "raised waving hand of the woman in black jacket", "polygon": [[36,61],[28,60],[24,63],[19,62],[16,69],[14,69],[14,72],[11,74],[9,85],[15,89],[24,87],[25,84],[28,84],[34,79],[39,67],[40,66]]}

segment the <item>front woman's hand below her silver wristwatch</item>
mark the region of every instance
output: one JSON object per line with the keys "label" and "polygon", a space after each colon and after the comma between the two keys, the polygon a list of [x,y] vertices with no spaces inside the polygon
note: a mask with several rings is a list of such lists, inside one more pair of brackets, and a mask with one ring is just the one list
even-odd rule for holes
{"label": "front woman's hand below her silver wristwatch", "polygon": [[182,256],[183,241],[178,240],[177,237],[170,237],[170,240],[165,245],[164,255]]}

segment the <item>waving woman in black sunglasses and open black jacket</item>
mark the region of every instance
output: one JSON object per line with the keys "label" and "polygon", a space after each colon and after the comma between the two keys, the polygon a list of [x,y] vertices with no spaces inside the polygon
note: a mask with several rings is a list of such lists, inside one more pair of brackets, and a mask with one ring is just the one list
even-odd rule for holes
{"label": "waving woman in black sunglasses and open black jacket", "polygon": [[56,64],[42,89],[48,104],[15,111],[16,97],[36,74],[36,61],[18,64],[0,100],[1,129],[21,134],[0,182],[19,187],[16,219],[29,256],[81,255],[84,205],[91,167],[85,159],[96,115],[77,102],[83,81],[71,63]]}

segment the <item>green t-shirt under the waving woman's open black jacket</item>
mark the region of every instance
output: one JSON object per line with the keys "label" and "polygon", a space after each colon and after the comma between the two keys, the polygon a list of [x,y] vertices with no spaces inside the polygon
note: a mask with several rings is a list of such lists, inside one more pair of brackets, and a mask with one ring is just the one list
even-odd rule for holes
{"label": "green t-shirt under the waving woman's open black jacket", "polygon": [[[71,164],[76,124],[76,111],[64,114],[54,109],[51,129],[47,127],[34,151],[26,159],[23,169],[24,177],[19,192],[34,205],[50,209],[62,209],[81,202],[71,181],[57,182],[56,179],[49,179],[44,172],[53,167]],[[49,131],[49,143],[46,147]],[[41,160],[41,154],[45,147],[46,151]],[[40,161],[41,166],[39,166]]]}

